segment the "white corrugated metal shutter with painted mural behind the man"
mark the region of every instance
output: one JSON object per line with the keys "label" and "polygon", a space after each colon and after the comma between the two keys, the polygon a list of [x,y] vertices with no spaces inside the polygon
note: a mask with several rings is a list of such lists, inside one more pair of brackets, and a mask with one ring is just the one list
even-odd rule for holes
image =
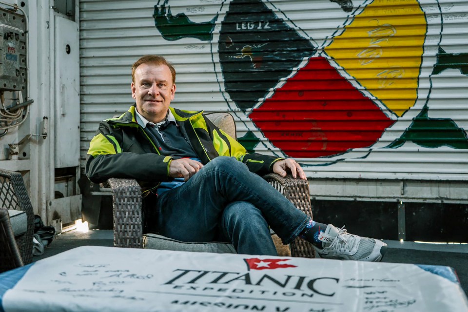
{"label": "white corrugated metal shutter with painted mural behind the man", "polygon": [[467,3],[80,0],[81,157],[160,54],[173,106],[234,113],[248,149],[309,177],[466,181]]}

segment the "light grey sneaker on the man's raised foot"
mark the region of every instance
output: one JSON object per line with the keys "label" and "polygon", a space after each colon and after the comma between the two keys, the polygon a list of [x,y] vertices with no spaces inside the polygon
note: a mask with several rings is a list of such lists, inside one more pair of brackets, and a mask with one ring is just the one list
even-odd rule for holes
{"label": "light grey sneaker on the man's raised foot", "polygon": [[323,249],[315,248],[320,258],[357,261],[380,261],[387,250],[387,244],[373,238],[347,233],[329,224],[318,239]]}

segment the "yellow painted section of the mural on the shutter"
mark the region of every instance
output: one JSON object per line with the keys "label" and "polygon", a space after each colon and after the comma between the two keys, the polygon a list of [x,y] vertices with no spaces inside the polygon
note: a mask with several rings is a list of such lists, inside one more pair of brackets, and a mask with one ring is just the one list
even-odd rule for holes
{"label": "yellow painted section of the mural on the shutter", "polygon": [[417,98],[425,36],[426,19],[417,0],[374,0],[325,51],[401,116]]}

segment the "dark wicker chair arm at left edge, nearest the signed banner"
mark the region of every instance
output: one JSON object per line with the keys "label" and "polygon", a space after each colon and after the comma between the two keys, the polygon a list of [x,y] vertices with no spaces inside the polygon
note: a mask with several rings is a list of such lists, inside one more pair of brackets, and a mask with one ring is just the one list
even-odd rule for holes
{"label": "dark wicker chair arm at left edge, nearest the signed banner", "polygon": [[0,208],[0,273],[23,266],[6,209]]}

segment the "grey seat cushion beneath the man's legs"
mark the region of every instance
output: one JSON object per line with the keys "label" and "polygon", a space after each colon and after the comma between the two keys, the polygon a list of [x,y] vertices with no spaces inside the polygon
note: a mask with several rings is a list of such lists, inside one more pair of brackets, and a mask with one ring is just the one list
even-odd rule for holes
{"label": "grey seat cushion beneath the man's legs", "polygon": [[200,253],[236,254],[234,246],[223,242],[188,243],[158,234],[144,234],[143,248]]}

